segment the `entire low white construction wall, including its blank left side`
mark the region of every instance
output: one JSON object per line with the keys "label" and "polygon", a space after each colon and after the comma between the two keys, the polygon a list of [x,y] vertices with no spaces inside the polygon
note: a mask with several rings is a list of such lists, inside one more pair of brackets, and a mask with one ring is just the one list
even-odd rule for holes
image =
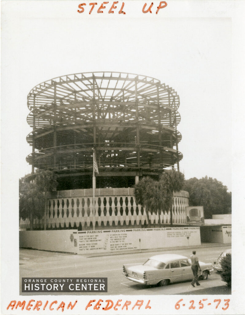
{"label": "entire low white construction wall, including its blank left side", "polygon": [[199,227],[19,232],[20,247],[81,255],[200,244]]}

